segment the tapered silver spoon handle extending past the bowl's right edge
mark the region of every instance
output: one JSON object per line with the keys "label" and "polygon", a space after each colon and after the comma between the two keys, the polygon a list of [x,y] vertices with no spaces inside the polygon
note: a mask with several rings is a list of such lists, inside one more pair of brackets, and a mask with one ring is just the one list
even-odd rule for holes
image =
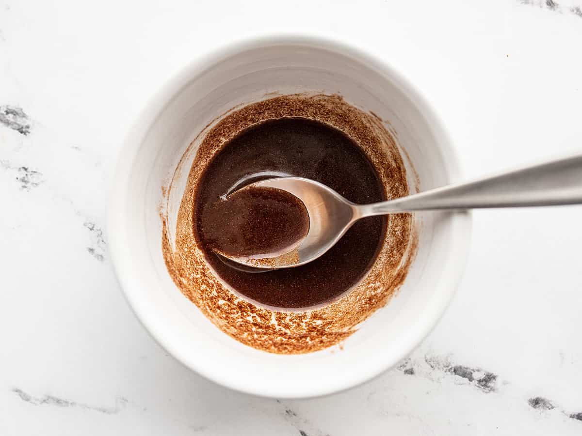
{"label": "tapered silver spoon handle extending past the bowl's right edge", "polygon": [[437,209],[516,208],[582,203],[582,155],[358,206],[360,217]]}

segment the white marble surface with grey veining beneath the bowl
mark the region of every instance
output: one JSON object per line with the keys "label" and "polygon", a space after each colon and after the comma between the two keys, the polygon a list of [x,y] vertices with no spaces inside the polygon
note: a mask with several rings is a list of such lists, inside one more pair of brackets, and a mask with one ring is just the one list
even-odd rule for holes
{"label": "white marble surface with grey veining beneath the bowl", "polygon": [[0,434],[582,434],[579,206],[474,213],[438,327],[327,398],[204,380],[123,299],[104,234],[123,134],[184,63],[243,35],[317,30],[385,56],[467,176],[582,151],[582,2],[363,3],[0,0]]}

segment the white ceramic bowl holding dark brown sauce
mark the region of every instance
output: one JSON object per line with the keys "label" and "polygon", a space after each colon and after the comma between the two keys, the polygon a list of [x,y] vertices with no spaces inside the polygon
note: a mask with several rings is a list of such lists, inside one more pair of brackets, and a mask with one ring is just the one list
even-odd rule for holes
{"label": "white ceramic bowl holding dark brown sauce", "polygon": [[[359,49],[320,38],[255,39],[191,63],[144,108],[120,152],[108,211],[109,248],[137,317],[187,367],[256,395],[331,394],[394,366],[435,326],[464,269],[470,215],[417,214],[420,242],[406,282],[342,350],[275,355],[222,333],[180,293],[166,271],[158,215],[161,186],[208,122],[239,103],[275,91],[339,92],[347,102],[388,120],[416,168],[421,190],[458,178],[445,128],[392,67]],[[177,209],[180,189],[172,194],[170,209]]]}

